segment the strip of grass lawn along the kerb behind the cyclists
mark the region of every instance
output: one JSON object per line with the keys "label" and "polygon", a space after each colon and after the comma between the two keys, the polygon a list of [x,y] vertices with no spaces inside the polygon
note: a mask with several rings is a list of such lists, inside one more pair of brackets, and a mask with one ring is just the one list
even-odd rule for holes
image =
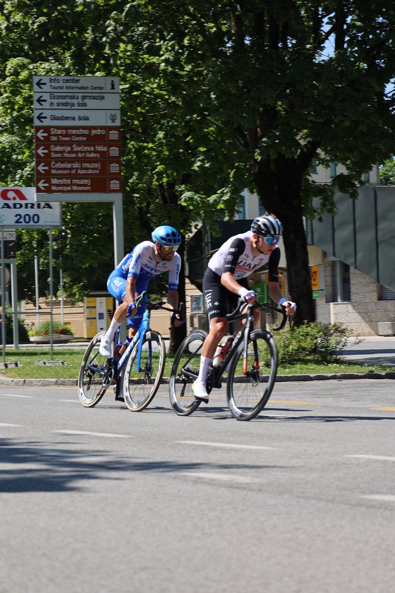
{"label": "strip of grass lawn along the kerb behind the cyclists", "polygon": [[[10,367],[0,370],[0,377],[10,378],[33,378],[33,379],[77,379],[79,366],[81,365],[83,349],[62,348],[53,350],[53,359],[55,361],[65,361],[65,365],[37,365],[37,361],[49,361],[49,349],[21,349],[6,350],[5,362],[19,362],[20,366]],[[166,356],[165,377],[169,377],[174,355]],[[333,364],[323,364],[322,362],[306,361],[303,364],[279,366],[278,375],[312,375],[312,374],[332,374],[332,373],[361,373],[361,372],[385,372],[392,371],[394,368],[380,365],[359,364],[356,362],[333,362]]]}

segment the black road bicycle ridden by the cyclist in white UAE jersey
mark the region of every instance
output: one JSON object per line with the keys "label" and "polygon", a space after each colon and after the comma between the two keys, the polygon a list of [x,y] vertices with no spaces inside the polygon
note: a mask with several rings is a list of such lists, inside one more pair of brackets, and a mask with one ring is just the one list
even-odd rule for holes
{"label": "black road bicycle ridden by the cyclist in white UAE jersey", "polygon": [[[246,308],[247,307],[247,308]],[[264,329],[253,329],[253,311],[265,308],[282,314],[281,330],[287,323],[285,308],[271,307],[268,303],[254,301],[246,305],[240,301],[235,311],[226,315],[229,321],[246,319],[237,333],[229,352],[218,366],[211,363],[206,379],[207,393],[221,387],[221,378],[229,368],[226,378],[226,397],[230,413],[237,420],[251,420],[265,407],[277,376],[278,355],[274,337]],[[194,330],[181,343],[176,352],[169,380],[170,403],[179,416],[188,416],[201,401],[194,398],[192,383],[198,376],[200,356],[207,333]]]}

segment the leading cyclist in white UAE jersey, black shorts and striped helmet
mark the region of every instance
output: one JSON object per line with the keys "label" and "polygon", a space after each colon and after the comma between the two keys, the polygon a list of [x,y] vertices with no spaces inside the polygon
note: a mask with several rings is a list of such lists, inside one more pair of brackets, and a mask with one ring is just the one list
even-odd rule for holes
{"label": "leading cyclist in white UAE jersey, black shorts and striped helmet", "polygon": [[[229,313],[229,309],[236,308],[239,297],[246,303],[257,300],[247,282],[247,277],[252,272],[266,264],[269,269],[271,298],[279,305],[284,305],[287,315],[295,313],[296,304],[283,297],[278,283],[278,241],[281,232],[282,225],[276,216],[258,216],[252,221],[251,231],[230,237],[208,262],[203,278],[203,294],[210,331],[203,343],[199,375],[192,384],[197,400],[208,402],[205,380],[217,346],[226,334],[228,321],[225,315]],[[256,309],[254,327],[258,324],[259,317],[260,310]],[[241,324],[233,337],[240,327]]]}

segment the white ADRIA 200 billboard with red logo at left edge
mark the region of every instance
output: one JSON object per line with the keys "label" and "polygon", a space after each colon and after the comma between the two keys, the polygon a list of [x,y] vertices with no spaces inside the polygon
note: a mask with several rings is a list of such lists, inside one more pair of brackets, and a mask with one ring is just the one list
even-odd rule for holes
{"label": "white ADRIA 200 billboard with red logo at left edge", "polygon": [[0,187],[0,227],[60,227],[60,203],[34,202],[35,193],[35,187]]}

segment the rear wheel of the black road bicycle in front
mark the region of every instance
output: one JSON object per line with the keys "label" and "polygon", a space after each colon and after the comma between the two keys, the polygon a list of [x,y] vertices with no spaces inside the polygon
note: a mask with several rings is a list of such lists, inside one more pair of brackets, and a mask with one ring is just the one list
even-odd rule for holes
{"label": "rear wheel of the black road bicycle in front", "polygon": [[169,395],[171,406],[179,416],[189,416],[201,404],[200,401],[195,400],[192,382],[199,372],[201,347],[206,337],[205,331],[191,331],[182,341],[174,357],[169,380]]}

